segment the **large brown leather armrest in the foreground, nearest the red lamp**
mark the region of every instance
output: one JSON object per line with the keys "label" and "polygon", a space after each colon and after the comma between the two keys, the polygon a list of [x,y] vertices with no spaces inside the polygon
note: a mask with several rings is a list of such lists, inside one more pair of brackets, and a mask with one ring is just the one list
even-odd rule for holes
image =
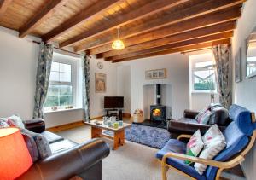
{"label": "large brown leather armrest in the foreground, nearest the red lamp", "polygon": [[[95,173],[101,173],[102,168],[98,164],[108,156],[109,152],[106,142],[92,139],[33,164],[18,179],[69,179],[80,173],[83,174],[88,169],[93,169],[96,171]],[[99,168],[92,168],[94,165]]]}

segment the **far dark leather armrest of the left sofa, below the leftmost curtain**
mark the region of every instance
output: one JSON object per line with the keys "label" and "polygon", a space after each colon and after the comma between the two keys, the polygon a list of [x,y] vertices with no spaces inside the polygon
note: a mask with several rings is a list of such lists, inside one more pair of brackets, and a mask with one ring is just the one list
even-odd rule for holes
{"label": "far dark leather armrest of the left sofa, below the leftmost curtain", "polygon": [[44,119],[30,119],[23,121],[25,127],[29,131],[33,132],[44,132],[45,131],[45,123]]}

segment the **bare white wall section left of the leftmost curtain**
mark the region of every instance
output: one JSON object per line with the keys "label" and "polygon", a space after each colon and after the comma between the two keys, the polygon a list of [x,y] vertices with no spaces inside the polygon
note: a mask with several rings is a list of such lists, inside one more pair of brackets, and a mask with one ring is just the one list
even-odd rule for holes
{"label": "bare white wall section left of the leftmost curtain", "polygon": [[31,119],[39,46],[18,32],[0,27],[0,117]]}

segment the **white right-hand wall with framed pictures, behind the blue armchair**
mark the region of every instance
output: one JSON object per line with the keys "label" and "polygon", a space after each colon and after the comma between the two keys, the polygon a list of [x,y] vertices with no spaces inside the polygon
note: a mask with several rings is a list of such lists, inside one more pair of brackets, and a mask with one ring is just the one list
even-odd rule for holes
{"label": "white right-hand wall with framed pictures, behind the blue armchair", "polygon": [[[235,103],[247,107],[249,110],[256,112],[256,77],[246,78],[246,55],[245,41],[247,36],[256,26],[256,1],[247,0],[242,10],[241,18],[238,20],[234,38],[232,39],[232,54],[233,54],[233,97]],[[235,55],[239,48],[242,48],[242,63],[241,73],[242,81],[236,83],[234,80],[234,64]],[[255,145],[249,154],[246,156],[246,161],[242,163],[243,170],[246,173],[247,179],[255,179],[256,177],[256,150]]]}

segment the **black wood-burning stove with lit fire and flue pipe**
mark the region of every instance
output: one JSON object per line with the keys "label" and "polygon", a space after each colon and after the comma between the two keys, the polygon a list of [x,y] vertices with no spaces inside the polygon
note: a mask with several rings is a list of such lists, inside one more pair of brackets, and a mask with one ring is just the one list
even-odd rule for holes
{"label": "black wood-burning stove with lit fire and flue pipe", "polygon": [[161,84],[156,84],[156,105],[150,106],[150,120],[154,122],[166,121],[166,106],[161,105]]}

